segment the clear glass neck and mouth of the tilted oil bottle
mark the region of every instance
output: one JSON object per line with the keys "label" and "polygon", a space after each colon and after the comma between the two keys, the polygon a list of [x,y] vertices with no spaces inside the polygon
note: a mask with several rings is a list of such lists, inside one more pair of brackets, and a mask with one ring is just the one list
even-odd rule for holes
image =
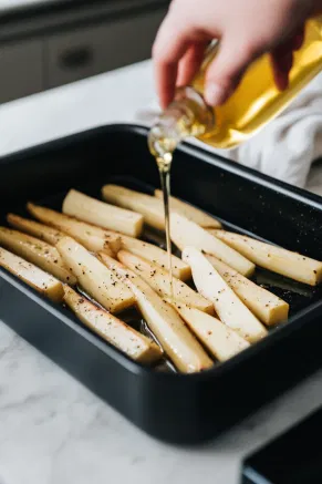
{"label": "clear glass neck and mouth of the tilted oil bottle", "polygon": [[150,153],[170,164],[178,144],[190,136],[201,136],[215,126],[214,111],[190,86],[177,90],[173,103],[160,114],[148,134]]}

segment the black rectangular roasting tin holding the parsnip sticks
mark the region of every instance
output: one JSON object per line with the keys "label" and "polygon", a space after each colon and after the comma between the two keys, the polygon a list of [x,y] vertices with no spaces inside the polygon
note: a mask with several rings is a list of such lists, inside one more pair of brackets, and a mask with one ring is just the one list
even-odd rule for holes
{"label": "black rectangular roasting tin holding the parsnip sticks", "polygon": [[[145,127],[107,125],[0,158],[1,224],[8,213],[27,215],[28,200],[61,210],[70,188],[101,198],[106,183],[147,193],[159,187]],[[322,198],[305,190],[184,143],[172,194],[229,230],[321,259]],[[322,289],[261,269],[253,280],[290,303],[288,322],[197,374],[132,361],[3,269],[0,319],[147,434],[191,445],[215,439],[321,367]],[[135,318],[127,315],[137,325]]]}

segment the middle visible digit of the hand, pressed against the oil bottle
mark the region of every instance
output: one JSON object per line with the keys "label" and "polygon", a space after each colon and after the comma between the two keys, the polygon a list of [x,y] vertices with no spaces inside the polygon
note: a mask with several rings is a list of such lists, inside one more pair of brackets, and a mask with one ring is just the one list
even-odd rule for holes
{"label": "middle visible digit of the hand, pressed against the oil bottle", "polygon": [[257,51],[246,43],[222,41],[218,54],[206,74],[205,100],[211,106],[220,105],[237,89],[248,65],[256,59]]}

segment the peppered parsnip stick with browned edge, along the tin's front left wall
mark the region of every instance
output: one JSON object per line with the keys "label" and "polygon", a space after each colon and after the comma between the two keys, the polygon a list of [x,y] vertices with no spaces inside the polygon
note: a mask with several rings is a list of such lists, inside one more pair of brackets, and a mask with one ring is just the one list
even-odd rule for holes
{"label": "peppered parsnip stick with browned edge, along the tin's front left wall", "polygon": [[133,360],[154,363],[160,359],[163,351],[154,341],[69,287],[64,288],[64,301],[87,328]]}

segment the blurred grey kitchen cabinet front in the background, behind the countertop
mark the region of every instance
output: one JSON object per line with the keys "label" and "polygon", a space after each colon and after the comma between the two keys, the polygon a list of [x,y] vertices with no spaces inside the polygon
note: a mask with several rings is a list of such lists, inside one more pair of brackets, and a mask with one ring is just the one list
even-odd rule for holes
{"label": "blurred grey kitchen cabinet front in the background, behind the countertop", "polygon": [[87,10],[30,18],[24,30],[13,22],[11,37],[0,43],[0,103],[150,58],[167,2],[118,1],[101,2],[102,16],[90,2]]}

